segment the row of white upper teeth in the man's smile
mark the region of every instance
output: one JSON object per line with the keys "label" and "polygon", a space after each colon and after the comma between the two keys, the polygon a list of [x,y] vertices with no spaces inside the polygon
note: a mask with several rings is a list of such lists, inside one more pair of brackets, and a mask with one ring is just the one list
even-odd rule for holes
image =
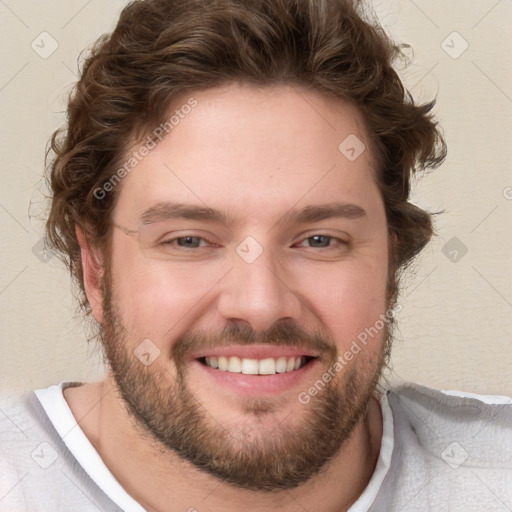
{"label": "row of white upper teeth in the man's smile", "polygon": [[245,359],[231,357],[206,357],[206,364],[219,370],[244,373],[246,375],[274,375],[275,373],[298,370],[302,358],[299,357],[269,357],[268,359]]}

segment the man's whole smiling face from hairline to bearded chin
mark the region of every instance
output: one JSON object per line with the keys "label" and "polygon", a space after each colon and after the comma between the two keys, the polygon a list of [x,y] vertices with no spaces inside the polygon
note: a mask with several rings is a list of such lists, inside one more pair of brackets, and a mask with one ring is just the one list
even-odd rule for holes
{"label": "man's whole smiling face from hairline to bearded chin", "polygon": [[[292,87],[190,96],[121,184],[114,222],[153,224],[113,231],[103,342],[152,439],[233,485],[292,488],[350,437],[383,362],[386,329],[334,368],[388,306],[367,136],[355,108]],[[175,204],[225,219],[176,217]]]}

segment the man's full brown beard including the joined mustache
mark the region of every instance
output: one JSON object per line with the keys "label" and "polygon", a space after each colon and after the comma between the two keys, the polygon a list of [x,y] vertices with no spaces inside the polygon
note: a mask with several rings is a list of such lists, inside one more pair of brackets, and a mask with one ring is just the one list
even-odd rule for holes
{"label": "man's full brown beard including the joined mustache", "polygon": [[[258,428],[258,419],[279,411],[277,399],[241,400],[241,413],[250,417],[242,425],[216,421],[189,387],[189,354],[230,341],[240,345],[286,344],[318,351],[327,370],[338,357],[332,340],[311,335],[294,322],[277,323],[262,333],[230,323],[220,332],[188,332],[175,340],[169,354],[162,353],[152,365],[144,366],[134,356],[129,333],[116,310],[110,275],[105,277],[101,326],[105,354],[135,427],[152,443],[156,440],[160,451],[162,446],[172,450],[201,471],[238,488],[266,492],[293,489],[325,468],[364,421],[389,352],[387,324],[378,360],[356,355],[357,364],[344,367],[303,405],[306,409],[297,427],[283,421],[269,432]],[[372,343],[378,342],[375,339]],[[176,365],[176,377],[167,373],[168,359]]]}

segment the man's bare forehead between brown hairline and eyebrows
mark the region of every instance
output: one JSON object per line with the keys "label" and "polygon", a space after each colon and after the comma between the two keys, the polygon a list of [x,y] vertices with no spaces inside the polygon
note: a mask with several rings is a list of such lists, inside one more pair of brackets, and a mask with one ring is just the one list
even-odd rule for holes
{"label": "man's bare forehead between brown hairline and eyebrows", "polygon": [[290,85],[228,84],[182,94],[171,117],[169,134],[120,184],[116,210],[132,220],[166,201],[254,220],[319,202],[381,209],[364,121],[349,103]]}

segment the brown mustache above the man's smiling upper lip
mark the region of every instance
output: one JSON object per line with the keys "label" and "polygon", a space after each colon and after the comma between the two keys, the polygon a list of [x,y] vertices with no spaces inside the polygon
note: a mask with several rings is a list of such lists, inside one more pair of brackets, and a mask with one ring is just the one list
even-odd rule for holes
{"label": "brown mustache above the man's smiling upper lip", "polygon": [[285,345],[305,348],[318,353],[334,363],[337,349],[330,336],[320,331],[307,332],[294,320],[282,320],[265,331],[255,331],[246,324],[231,322],[223,329],[190,331],[176,339],[171,348],[171,358],[178,368],[183,368],[192,352],[232,345]]}

